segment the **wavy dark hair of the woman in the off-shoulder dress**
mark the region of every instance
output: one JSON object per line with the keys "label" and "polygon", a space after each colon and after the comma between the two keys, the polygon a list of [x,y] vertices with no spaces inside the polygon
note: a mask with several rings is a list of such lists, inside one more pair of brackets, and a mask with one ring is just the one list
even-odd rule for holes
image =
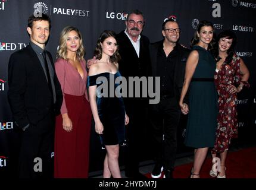
{"label": "wavy dark hair of the woman in the off-shoulder dress", "polygon": [[[97,40],[97,45],[96,48],[94,50],[94,55],[96,57],[96,59],[101,59],[102,58],[102,47],[101,47],[101,43],[104,42],[105,39],[107,39],[108,37],[114,37],[115,38],[116,34],[113,30],[104,30],[101,35],[99,36],[99,39]],[[115,53],[110,56],[110,62],[112,63],[116,63],[118,61],[120,61],[121,56],[118,53],[118,46],[117,46],[117,50],[115,51]]]}

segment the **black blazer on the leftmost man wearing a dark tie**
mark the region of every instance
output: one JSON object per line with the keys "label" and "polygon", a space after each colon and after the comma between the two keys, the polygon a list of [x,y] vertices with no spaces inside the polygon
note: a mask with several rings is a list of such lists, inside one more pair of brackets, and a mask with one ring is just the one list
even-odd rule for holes
{"label": "black blazer on the leftmost man wearing a dark tie", "polygon": [[[54,68],[51,53],[47,53]],[[42,65],[30,45],[11,55],[8,66],[8,84],[8,100],[15,124],[20,128],[27,124],[36,125],[47,115],[52,106],[52,95]],[[58,115],[63,102],[63,94],[55,68],[54,84],[56,90],[54,110]]]}

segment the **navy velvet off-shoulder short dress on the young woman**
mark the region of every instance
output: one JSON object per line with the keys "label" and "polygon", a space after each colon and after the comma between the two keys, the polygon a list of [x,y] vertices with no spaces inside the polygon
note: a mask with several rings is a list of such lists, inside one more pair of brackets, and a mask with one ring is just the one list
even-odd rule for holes
{"label": "navy velvet off-shoulder short dress on the young woman", "polygon": [[[87,80],[88,87],[97,85],[96,103],[99,119],[104,127],[103,134],[100,135],[103,145],[116,145],[124,141],[125,110],[123,98],[115,94],[115,91],[120,90],[120,83],[114,82],[117,77],[121,77],[119,71],[115,74],[102,72],[88,76]],[[111,88],[111,85],[114,88]],[[102,90],[102,87],[107,87],[107,92],[106,89]]]}

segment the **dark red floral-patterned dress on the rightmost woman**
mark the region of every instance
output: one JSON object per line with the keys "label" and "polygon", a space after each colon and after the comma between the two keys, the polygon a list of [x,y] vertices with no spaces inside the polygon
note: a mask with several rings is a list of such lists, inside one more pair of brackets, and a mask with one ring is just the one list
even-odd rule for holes
{"label": "dark red floral-patterned dress on the rightmost woman", "polygon": [[236,87],[244,83],[240,72],[241,59],[237,55],[233,55],[232,62],[227,64],[224,61],[220,71],[216,71],[214,75],[214,83],[218,91],[218,109],[216,142],[212,153],[222,153],[229,149],[231,138],[236,138],[238,135],[238,119],[236,112],[236,93],[229,93],[232,85]]}

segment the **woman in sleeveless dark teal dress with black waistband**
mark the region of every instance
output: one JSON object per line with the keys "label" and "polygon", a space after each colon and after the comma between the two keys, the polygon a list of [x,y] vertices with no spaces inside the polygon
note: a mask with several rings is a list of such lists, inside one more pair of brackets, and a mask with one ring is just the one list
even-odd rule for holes
{"label": "woman in sleeveless dark teal dress with black waistband", "polygon": [[[216,62],[209,50],[213,46],[214,27],[201,21],[192,40],[192,52],[186,62],[185,81],[180,97],[183,114],[188,113],[185,145],[195,148],[191,178],[199,178],[209,147],[214,146],[217,127],[217,91],[214,85]],[[189,89],[189,105],[183,103]]]}

